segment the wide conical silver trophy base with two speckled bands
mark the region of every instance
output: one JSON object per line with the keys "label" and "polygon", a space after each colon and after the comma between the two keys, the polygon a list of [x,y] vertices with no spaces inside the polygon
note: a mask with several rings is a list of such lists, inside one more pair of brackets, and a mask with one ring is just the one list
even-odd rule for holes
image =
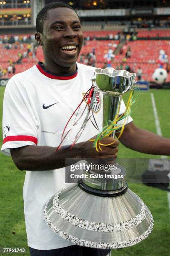
{"label": "wide conical silver trophy base with two speckled bands", "polygon": [[44,218],[62,238],[91,248],[133,246],[153,230],[150,210],[130,189],[123,195],[100,197],[71,185],[47,202]]}

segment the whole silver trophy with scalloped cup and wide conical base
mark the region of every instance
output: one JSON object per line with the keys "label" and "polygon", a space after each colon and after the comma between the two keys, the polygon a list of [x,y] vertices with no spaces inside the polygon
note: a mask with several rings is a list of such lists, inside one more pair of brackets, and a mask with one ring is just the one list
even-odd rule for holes
{"label": "whole silver trophy with scalloped cup and wide conical base", "polygon": [[[94,86],[103,94],[103,128],[119,113],[122,95],[134,87],[135,73],[112,68],[96,69]],[[112,135],[114,136],[114,133]],[[86,173],[87,174],[87,173]],[[133,246],[153,230],[153,217],[144,202],[125,181],[126,170],[117,165],[102,179],[98,169],[77,184],[55,194],[45,205],[47,225],[77,245],[112,249]],[[112,179],[113,175],[122,176]]]}

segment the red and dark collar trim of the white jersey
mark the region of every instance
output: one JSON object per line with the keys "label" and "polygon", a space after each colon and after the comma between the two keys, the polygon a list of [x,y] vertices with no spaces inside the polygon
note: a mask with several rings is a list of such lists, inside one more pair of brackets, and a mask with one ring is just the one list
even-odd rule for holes
{"label": "red and dark collar trim of the white jersey", "polygon": [[76,72],[73,74],[56,75],[56,74],[54,74],[52,72],[48,72],[46,69],[44,69],[42,66],[42,62],[38,62],[36,67],[42,74],[44,74],[46,77],[49,77],[52,79],[70,80],[70,79],[77,77],[77,74],[78,74],[78,72],[76,70]]}

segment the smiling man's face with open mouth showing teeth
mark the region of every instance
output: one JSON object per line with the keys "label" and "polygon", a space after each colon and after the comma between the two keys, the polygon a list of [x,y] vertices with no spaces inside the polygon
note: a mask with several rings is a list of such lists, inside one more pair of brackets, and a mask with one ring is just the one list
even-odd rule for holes
{"label": "smiling man's face with open mouth showing teeth", "polygon": [[71,67],[77,61],[83,34],[77,14],[70,8],[55,8],[47,13],[42,33],[46,59],[60,67]]}

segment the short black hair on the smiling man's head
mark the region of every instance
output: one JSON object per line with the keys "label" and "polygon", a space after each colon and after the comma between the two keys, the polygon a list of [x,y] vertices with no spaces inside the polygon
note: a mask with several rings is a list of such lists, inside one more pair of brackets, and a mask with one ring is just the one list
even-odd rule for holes
{"label": "short black hair on the smiling man's head", "polygon": [[47,18],[48,10],[55,9],[55,8],[58,8],[58,7],[66,7],[66,8],[70,8],[71,10],[75,11],[70,5],[67,5],[66,3],[62,3],[62,2],[52,2],[52,3],[49,3],[49,4],[45,5],[40,10],[40,12],[37,14],[37,18],[36,18],[36,30],[37,30],[37,32],[40,32],[40,33],[43,32],[43,24],[44,24],[44,20],[46,20],[46,18]]}

